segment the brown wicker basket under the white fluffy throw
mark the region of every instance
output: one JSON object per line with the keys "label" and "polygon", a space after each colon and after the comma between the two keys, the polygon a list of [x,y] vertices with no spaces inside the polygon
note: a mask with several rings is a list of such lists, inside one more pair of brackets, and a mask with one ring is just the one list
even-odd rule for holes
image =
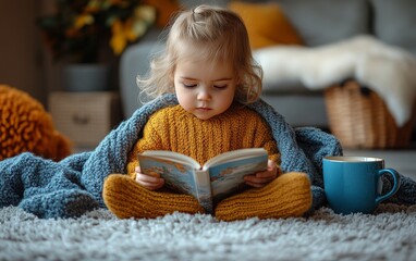
{"label": "brown wicker basket under the white fluffy throw", "polygon": [[383,100],[355,80],[326,89],[325,100],[330,130],[343,147],[386,149],[408,146],[416,120],[415,107],[412,119],[397,127]]}

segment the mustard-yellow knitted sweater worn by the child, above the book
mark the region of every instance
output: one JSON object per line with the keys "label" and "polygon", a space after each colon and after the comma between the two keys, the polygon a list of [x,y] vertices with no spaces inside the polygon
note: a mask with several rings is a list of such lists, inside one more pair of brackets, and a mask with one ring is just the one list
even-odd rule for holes
{"label": "mustard-yellow knitted sweater worn by the child, above the book", "polygon": [[280,165],[280,153],[266,121],[255,111],[233,103],[224,113],[199,120],[181,105],[171,105],[151,115],[143,137],[129,154],[127,173],[134,175],[137,153],[145,150],[171,150],[204,164],[225,151],[265,148],[269,159]]}

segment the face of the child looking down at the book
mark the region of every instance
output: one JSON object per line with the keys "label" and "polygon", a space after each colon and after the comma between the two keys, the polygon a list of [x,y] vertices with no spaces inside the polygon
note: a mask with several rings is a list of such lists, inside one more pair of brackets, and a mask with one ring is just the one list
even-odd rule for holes
{"label": "face of the child looking down at the book", "polygon": [[200,120],[223,113],[234,100],[236,79],[228,63],[180,61],[173,77],[179,103]]}

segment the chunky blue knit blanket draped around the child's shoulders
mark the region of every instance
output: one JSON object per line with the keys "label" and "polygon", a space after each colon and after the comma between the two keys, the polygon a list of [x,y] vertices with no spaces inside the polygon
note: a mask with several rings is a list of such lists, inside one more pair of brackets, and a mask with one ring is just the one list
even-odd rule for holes
{"label": "chunky blue knit blanket draped around the child's shoulders", "polygon": [[[101,196],[105,178],[111,173],[126,173],[129,152],[140,138],[149,116],[172,104],[178,104],[173,95],[145,104],[110,132],[95,150],[70,156],[60,162],[27,152],[0,161],[0,208],[19,206],[46,219],[78,216],[96,208],[106,208]],[[283,172],[309,175],[314,197],[311,211],[323,206],[321,161],[326,156],[342,154],[339,140],[318,128],[292,128],[262,100],[250,108],[270,124],[281,152]],[[411,185],[413,192],[416,191],[414,182]],[[408,194],[403,198],[408,201]]]}

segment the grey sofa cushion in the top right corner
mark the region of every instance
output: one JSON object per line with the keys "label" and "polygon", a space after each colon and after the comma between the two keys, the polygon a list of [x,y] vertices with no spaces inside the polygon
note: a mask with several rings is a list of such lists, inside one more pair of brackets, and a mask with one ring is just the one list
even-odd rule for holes
{"label": "grey sofa cushion in the top right corner", "polygon": [[415,0],[371,0],[375,35],[416,55]]}

